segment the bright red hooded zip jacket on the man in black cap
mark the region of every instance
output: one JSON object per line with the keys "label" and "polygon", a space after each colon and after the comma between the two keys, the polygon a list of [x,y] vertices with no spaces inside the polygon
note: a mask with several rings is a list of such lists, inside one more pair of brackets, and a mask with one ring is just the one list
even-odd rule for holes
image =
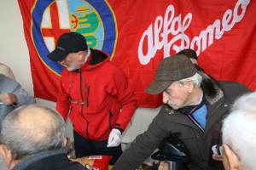
{"label": "bright red hooded zip jacket on the man in black cap", "polygon": [[79,71],[62,71],[56,110],[64,120],[69,116],[74,130],[84,138],[104,140],[113,127],[125,130],[137,99],[125,72],[107,54],[90,51]]}

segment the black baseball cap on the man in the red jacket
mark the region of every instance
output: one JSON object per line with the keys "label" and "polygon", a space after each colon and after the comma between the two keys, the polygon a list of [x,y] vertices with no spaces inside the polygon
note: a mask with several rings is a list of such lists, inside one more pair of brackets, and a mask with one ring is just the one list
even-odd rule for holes
{"label": "black baseball cap on the man in the red jacket", "polygon": [[47,57],[52,61],[61,61],[70,53],[77,53],[87,49],[86,40],[77,32],[67,32],[59,37],[55,50]]}

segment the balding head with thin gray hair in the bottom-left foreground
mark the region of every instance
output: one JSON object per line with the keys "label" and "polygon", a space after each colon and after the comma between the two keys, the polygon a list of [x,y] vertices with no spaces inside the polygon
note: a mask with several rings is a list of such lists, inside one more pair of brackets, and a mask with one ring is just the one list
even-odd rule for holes
{"label": "balding head with thin gray hair in the bottom-left foreground", "polygon": [[[47,116],[44,116],[45,119],[38,128],[37,125],[24,126],[24,123],[20,122],[20,114],[26,111],[38,111],[39,115],[43,112]],[[0,137],[1,143],[11,150],[15,159],[20,159],[40,151],[60,149],[64,132],[64,120],[58,112],[42,105],[24,105],[4,117]]]}

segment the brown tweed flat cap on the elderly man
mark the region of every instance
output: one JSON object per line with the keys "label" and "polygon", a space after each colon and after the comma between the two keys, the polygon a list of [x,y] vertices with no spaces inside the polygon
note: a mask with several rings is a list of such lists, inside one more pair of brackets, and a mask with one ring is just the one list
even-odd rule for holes
{"label": "brown tweed flat cap on the elderly man", "polygon": [[161,60],[157,66],[154,80],[146,89],[148,94],[160,94],[168,88],[172,82],[184,78],[193,77],[196,73],[195,65],[185,55],[172,55]]}

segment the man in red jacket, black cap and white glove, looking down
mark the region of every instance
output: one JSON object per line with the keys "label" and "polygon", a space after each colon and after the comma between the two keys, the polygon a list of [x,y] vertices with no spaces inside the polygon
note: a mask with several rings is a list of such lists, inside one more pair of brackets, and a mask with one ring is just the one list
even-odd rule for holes
{"label": "man in red jacket, black cap and white glove, looking down", "polygon": [[56,110],[73,122],[77,157],[119,158],[121,133],[137,108],[137,99],[125,72],[108,54],[88,48],[77,32],[61,35],[49,59],[66,65],[61,73]]}

